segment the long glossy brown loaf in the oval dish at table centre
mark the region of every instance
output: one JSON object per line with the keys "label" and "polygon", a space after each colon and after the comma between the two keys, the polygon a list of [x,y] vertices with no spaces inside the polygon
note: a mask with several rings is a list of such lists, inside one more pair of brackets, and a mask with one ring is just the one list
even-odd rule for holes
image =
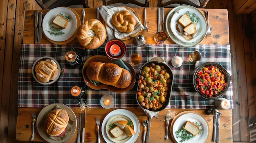
{"label": "long glossy brown loaf in the oval dish at table centre", "polygon": [[86,68],[86,75],[91,80],[117,88],[127,88],[132,81],[128,70],[113,63],[91,62]]}

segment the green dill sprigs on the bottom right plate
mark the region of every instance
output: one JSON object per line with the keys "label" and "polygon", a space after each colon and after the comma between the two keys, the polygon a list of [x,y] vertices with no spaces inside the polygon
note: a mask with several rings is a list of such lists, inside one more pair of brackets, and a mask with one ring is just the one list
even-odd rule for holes
{"label": "green dill sprigs on the bottom right plate", "polygon": [[[198,123],[195,123],[195,125],[197,125],[198,127],[201,126]],[[186,131],[184,129],[184,125],[182,126],[182,128],[180,130],[175,131],[175,134],[176,134],[176,138],[180,138],[181,143],[183,141],[188,141],[188,140],[192,139],[193,137],[195,137],[193,134],[189,133],[188,131]],[[199,129],[198,135],[200,135],[200,134],[202,134],[202,129]]]}

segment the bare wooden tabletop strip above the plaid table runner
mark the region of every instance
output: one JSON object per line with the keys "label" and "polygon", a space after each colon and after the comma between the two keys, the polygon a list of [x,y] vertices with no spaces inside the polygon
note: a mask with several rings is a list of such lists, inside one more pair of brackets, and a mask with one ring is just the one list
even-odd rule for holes
{"label": "bare wooden tabletop strip above the plaid table runner", "polygon": [[[139,17],[142,23],[144,23],[144,8],[133,8],[134,11],[139,13]],[[203,9],[199,9],[203,14]],[[228,23],[228,13],[226,9],[207,9],[209,11],[209,23],[211,24],[211,35],[212,37],[206,36],[205,39],[199,44],[229,44],[229,23]],[[48,10],[43,11],[43,15],[47,13]],[[79,14],[80,18],[82,16],[82,9],[75,9]],[[141,35],[146,38],[146,43],[155,44],[154,34],[157,32],[157,8],[146,8],[148,13],[147,16],[147,26],[148,33],[141,31]],[[165,8],[165,17],[171,8]],[[96,8],[85,8],[85,20],[90,18],[97,18]],[[22,40],[23,43],[33,44],[34,43],[34,11],[25,11],[25,21],[23,27]],[[102,19],[101,19],[102,20]],[[102,21],[103,22],[103,21]],[[73,44],[77,39],[75,38],[71,44]],[[133,44],[133,38],[124,41],[126,44]],[[52,44],[43,35],[41,44]],[[175,44],[171,38],[164,44]]]}

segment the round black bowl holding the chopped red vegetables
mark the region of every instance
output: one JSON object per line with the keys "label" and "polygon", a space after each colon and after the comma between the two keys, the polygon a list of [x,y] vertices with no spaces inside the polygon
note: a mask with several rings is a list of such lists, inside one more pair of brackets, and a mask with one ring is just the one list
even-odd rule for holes
{"label": "round black bowl holding the chopped red vegetables", "polygon": [[[199,70],[203,69],[204,67],[207,67],[207,66],[215,66],[216,68],[219,69],[219,71],[224,75],[224,80],[225,80],[225,83],[227,83],[227,85],[225,86],[225,84],[223,85],[224,88],[221,92],[219,92],[216,96],[207,96],[206,94],[203,94],[202,92],[200,92],[200,90],[198,89],[197,87],[197,84],[198,84],[198,81],[196,81],[197,79],[197,74],[199,72]],[[227,92],[228,88],[229,88],[229,84],[230,84],[230,80],[231,80],[231,76],[229,75],[229,73],[227,73],[227,70],[221,66],[220,64],[216,63],[216,62],[206,62],[204,64],[202,64],[201,66],[198,66],[198,68],[196,68],[195,70],[195,73],[193,75],[193,86],[195,88],[195,91],[203,98],[205,99],[217,99],[217,98],[220,98],[222,97],[222,95],[225,94],[225,92]]]}

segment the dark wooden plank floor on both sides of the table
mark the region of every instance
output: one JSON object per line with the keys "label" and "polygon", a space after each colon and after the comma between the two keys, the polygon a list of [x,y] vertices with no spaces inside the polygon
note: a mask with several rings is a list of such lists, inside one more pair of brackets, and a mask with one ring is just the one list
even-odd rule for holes
{"label": "dark wooden plank floor on both sides of the table", "polygon": [[[206,8],[228,9],[229,13],[235,103],[233,141],[256,142],[256,30],[253,30],[256,29],[256,12],[251,15],[236,15],[232,2],[209,0]],[[34,0],[0,0],[0,5],[0,143],[27,143],[16,141],[18,62],[23,13],[40,7]]]}

